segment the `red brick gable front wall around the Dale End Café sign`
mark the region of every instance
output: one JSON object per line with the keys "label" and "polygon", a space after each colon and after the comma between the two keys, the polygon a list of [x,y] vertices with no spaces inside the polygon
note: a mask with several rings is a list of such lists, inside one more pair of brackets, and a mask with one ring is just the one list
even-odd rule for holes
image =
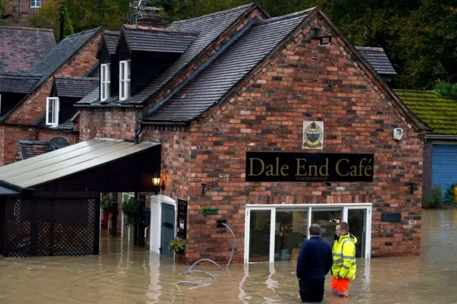
{"label": "red brick gable front wall around the Dale End Caf\u00e9 sign", "polygon": [[[326,27],[323,21],[315,24]],[[206,182],[216,191],[192,197],[188,258],[229,258],[226,233],[214,231],[215,219],[223,216],[238,239],[234,259],[242,260],[246,203],[373,203],[372,255],[419,253],[421,191],[411,195],[406,183],[421,183],[423,139],[373,78],[348,59],[351,51],[336,33],[332,46],[318,46],[309,29],[264,64],[239,95],[211,111],[206,123],[192,128],[191,170],[199,172],[191,184]],[[318,59],[311,59],[311,51],[318,51]],[[376,181],[331,186],[244,181],[246,151],[301,152],[302,123],[313,120],[324,122],[323,152],[375,153]],[[406,131],[401,143],[391,136],[396,126]],[[205,221],[196,205],[219,208],[221,216]],[[381,223],[383,211],[401,212],[402,222]]]}

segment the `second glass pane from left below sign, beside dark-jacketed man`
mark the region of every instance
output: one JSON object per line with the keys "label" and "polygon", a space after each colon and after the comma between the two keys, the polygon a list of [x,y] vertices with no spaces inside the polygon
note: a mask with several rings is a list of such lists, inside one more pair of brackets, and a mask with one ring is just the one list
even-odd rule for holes
{"label": "second glass pane from left below sign, beside dark-jacketed man", "polygon": [[307,229],[308,211],[276,209],[274,260],[296,260]]}

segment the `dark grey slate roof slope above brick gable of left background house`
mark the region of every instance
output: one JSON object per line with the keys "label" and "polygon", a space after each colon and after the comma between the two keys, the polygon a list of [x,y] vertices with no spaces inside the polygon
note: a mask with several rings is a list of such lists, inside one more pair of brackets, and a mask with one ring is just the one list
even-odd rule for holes
{"label": "dark grey slate roof slope above brick gable of left background house", "polygon": [[101,27],[97,29],[89,29],[81,33],[72,34],[66,36],[64,40],[60,41],[59,44],[52,49],[49,56],[44,59],[39,66],[36,66],[34,73],[42,74],[40,80],[36,83],[33,89],[38,88],[41,83],[46,81],[49,76],[59,69],[67,60],[73,56],[76,51],[79,51],[87,42],[89,42],[94,36],[101,30]]}

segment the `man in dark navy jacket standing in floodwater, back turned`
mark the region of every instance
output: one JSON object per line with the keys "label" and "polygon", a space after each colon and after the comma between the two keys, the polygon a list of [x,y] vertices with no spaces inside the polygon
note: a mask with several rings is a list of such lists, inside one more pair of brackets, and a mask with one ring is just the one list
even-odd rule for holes
{"label": "man in dark navy jacket standing in floodwater, back turned", "polygon": [[323,300],[326,274],[333,263],[331,245],[321,238],[321,227],[309,228],[310,238],[303,243],[297,260],[297,278],[303,303],[319,303]]}

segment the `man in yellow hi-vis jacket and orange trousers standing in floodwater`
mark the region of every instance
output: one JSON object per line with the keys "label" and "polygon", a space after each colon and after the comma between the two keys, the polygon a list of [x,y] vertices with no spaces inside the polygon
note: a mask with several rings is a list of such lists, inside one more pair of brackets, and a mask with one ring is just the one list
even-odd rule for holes
{"label": "man in yellow hi-vis jacket and orange trousers standing in floodwater", "polygon": [[356,278],[356,243],[357,238],[349,233],[348,223],[338,223],[333,243],[331,292],[344,298],[349,295],[349,283]]}

